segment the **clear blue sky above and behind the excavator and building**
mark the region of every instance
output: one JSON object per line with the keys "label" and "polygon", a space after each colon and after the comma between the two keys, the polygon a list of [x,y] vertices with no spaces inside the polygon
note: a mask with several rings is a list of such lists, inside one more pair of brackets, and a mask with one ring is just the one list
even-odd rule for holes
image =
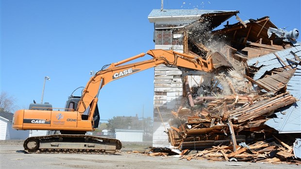
{"label": "clear blue sky above and behind the excavator and building", "polygon": [[[0,0],[0,5],[0,90],[27,109],[41,101],[45,76],[51,80],[43,101],[64,107],[91,70],[153,49],[147,17],[161,8],[161,0]],[[242,20],[269,16],[278,28],[301,31],[300,0],[164,0],[164,8],[238,10]],[[101,119],[142,112],[152,117],[153,74],[151,68],[105,85]]]}

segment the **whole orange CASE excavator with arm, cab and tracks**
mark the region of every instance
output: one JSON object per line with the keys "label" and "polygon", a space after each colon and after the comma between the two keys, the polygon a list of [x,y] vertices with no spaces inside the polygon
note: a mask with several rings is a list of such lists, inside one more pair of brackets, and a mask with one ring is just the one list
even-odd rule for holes
{"label": "whole orange CASE excavator with arm, cab and tracks", "polygon": [[[125,64],[146,54],[152,58]],[[60,134],[27,138],[23,146],[28,153],[117,153],[122,147],[119,140],[85,135],[88,131],[94,131],[99,124],[97,102],[100,89],[113,80],[160,64],[205,72],[211,72],[220,66],[231,66],[219,52],[212,53],[204,60],[197,55],[172,50],[149,50],[104,66],[90,78],[81,97],[69,97],[64,111],[54,111],[43,104],[30,106],[28,110],[17,110],[13,118],[13,129],[60,131]]]}

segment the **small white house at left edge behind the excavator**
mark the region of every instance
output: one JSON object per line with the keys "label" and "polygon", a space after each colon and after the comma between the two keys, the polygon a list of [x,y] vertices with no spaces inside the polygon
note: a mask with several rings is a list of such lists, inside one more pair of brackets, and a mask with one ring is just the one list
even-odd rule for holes
{"label": "small white house at left edge behind the excavator", "polygon": [[13,113],[0,111],[0,140],[23,140],[28,137],[28,130],[15,130],[12,128],[13,117]]}

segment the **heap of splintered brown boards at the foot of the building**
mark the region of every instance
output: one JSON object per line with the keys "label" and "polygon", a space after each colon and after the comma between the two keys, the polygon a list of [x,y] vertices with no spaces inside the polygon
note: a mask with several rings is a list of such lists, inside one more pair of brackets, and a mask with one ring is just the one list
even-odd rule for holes
{"label": "heap of splintered brown boards at the foot of the building", "polygon": [[[239,161],[283,162],[283,159],[294,157],[292,146],[287,145],[275,135],[272,135],[275,141],[284,147],[265,141],[257,141],[244,147],[238,146],[236,143],[245,142],[246,138],[237,134],[246,131],[269,131],[270,129],[264,125],[267,118],[263,115],[295,101],[296,99],[287,92],[278,95],[263,94],[253,97],[223,96],[209,102],[207,109],[195,110],[194,116],[186,118],[187,125],[182,124],[179,128],[170,127],[167,133],[170,143],[179,147],[179,149],[182,148],[181,155],[187,160],[205,158],[215,161],[229,161],[230,158],[234,157]],[[235,105],[242,105],[241,102],[251,104],[234,108]],[[233,109],[231,105],[234,105],[234,110],[231,110]],[[225,109],[225,106],[230,111]],[[178,112],[181,112],[181,110],[178,110]],[[233,146],[230,146],[231,144]],[[184,155],[188,150],[202,151],[196,154]],[[294,163],[300,162],[295,160]]]}

